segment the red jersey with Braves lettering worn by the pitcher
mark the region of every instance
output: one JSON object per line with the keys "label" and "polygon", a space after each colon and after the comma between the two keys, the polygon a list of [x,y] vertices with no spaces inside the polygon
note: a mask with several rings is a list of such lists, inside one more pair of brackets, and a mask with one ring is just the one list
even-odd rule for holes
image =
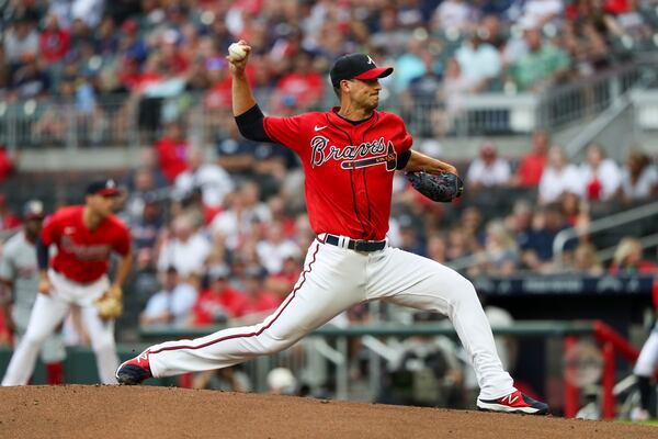
{"label": "red jersey with Braves lettering worn by the pitcher", "polygon": [[412,138],[402,120],[375,111],[356,125],[337,114],[265,117],[268,136],[299,155],[306,176],[306,206],[316,234],[355,239],[386,237],[393,177]]}

